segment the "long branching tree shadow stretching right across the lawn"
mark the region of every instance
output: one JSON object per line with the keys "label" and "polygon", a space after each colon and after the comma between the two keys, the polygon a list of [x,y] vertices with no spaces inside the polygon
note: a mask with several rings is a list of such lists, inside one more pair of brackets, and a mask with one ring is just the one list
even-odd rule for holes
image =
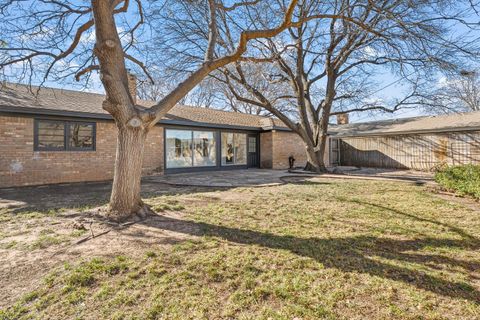
{"label": "long branching tree shadow stretching right across the lawn", "polygon": [[[170,230],[195,236],[216,237],[233,243],[261,246],[270,249],[288,250],[303,257],[322,263],[326,268],[343,272],[364,273],[395,281],[401,281],[422,290],[462,298],[480,303],[480,292],[466,282],[448,281],[421,271],[423,267],[441,268],[447,264],[466,271],[478,270],[479,263],[461,261],[443,256],[412,253],[424,248],[456,248],[479,250],[480,241],[474,237],[465,239],[423,238],[415,240],[395,240],[372,236],[345,238],[301,238],[276,235],[252,230],[212,225],[203,222],[180,220],[159,216],[143,222],[145,225],[162,230]],[[408,251],[408,253],[406,253]],[[389,260],[389,262],[380,261]],[[417,270],[398,264],[423,264]],[[458,272],[458,271],[457,271]]]}

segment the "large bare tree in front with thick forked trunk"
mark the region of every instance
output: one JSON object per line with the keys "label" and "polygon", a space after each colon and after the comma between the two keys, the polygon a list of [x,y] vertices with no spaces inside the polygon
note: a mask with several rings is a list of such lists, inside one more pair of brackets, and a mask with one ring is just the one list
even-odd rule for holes
{"label": "large bare tree in front with thick forked trunk", "polygon": [[[275,26],[242,28],[236,33],[236,45],[220,52],[217,49],[221,35],[217,25],[219,16],[247,10],[260,2],[239,1],[227,6],[218,0],[1,0],[2,41],[6,46],[0,48],[0,68],[10,68],[7,71],[18,78],[37,79],[42,84],[47,79],[71,76],[80,79],[92,71],[100,72],[106,93],[103,108],[112,115],[118,129],[108,213],[114,219],[123,219],[148,210],[141,200],[140,178],[150,128],[209,73],[241,59],[248,51],[248,42],[276,36],[298,23],[292,21],[297,0],[291,0],[285,7],[270,6],[274,11],[271,14],[276,16]],[[129,90],[126,61],[149,76],[147,65],[132,52],[139,54],[142,43],[163,32],[162,29],[142,29],[145,19],[156,17],[158,12],[168,15],[172,5],[183,10],[183,19],[176,21],[178,25],[203,25],[201,32],[208,39],[199,48],[204,53],[203,59],[192,65],[192,70],[161,100],[142,108],[135,105]],[[201,10],[205,15],[192,21],[189,10]],[[137,33],[141,33],[140,36]],[[90,38],[94,40],[88,41]]]}

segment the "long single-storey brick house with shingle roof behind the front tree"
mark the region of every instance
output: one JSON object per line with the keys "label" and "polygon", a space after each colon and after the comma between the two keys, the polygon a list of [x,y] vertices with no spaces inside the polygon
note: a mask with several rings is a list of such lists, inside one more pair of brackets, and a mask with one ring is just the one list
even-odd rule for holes
{"label": "long single-storey brick house with shingle roof behind the front tree", "polygon": [[[103,100],[100,94],[52,88],[34,96],[26,86],[5,84],[0,187],[112,179],[116,127]],[[176,106],[150,131],[143,170],[286,169],[289,156],[296,166],[306,162],[301,139],[277,119]]]}

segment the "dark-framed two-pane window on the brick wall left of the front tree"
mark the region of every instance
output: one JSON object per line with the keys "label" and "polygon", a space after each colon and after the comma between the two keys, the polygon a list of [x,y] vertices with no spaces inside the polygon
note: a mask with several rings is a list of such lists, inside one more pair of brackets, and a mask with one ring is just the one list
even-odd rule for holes
{"label": "dark-framed two-pane window on the brick wall left of the front tree", "polygon": [[35,120],[36,151],[93,151],[95,123],[60,120]]}

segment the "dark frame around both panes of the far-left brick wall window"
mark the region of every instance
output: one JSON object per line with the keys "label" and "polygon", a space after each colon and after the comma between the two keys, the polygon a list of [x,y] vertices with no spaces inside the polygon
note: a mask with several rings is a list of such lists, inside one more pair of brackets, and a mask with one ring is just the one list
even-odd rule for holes
{"label": "dark frame around both panes of the far-left brick wall window", "polygon": [[[39,123],[62,123],[63,124],[63,147],[41,147],[39,146]],[[72,124],[83,124],[92,126],[92,146],[91,147],[72,147],[70,146],[70,126]],[[33,150],[34,151],[95,151],[97,145],[97,123],[92,121],[77,120],[56,120],[56,119],[34,119],[33,126]]]}

